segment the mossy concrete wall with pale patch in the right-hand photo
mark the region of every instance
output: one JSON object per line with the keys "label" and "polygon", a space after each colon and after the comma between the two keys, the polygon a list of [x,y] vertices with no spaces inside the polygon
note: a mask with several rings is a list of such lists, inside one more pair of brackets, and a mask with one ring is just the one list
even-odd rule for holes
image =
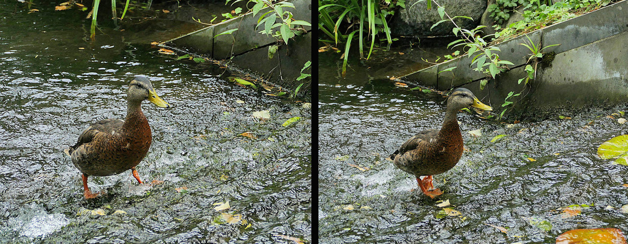
{"label": "mossy concrete wall with pale patch in the right-hand photo", "polygon": [[[440,63],[402,79],[438,90],[469,88],[477,97],[487,99],[483,101],[492,103],[498,114],[509,92],[525,95],[509,98],[515,102],[511,111],[625,102],[628,100],[628,79],[625,78],[628,75],[628,15],[625,11],[628,11],[628,1],[495,45],[501,50],[497,52],[500,59],[514,65],[509,65],[511,70],[497,75],[495,80],[489,79],[483,90],[480,82],[486,79],[485,75],[470,67],[474,55]],[[528,37],[541,47],[560,45],[543,50],[545,60],[538,64],[536,78],[530,80],[531,85],[524,86],[517,81],[527,76],[524,67],[531,51],[519,44],[529,45]],[[452,72],[438,73],[453,66],[457,68]],[[436,75],[435,70],[438,70]]]}

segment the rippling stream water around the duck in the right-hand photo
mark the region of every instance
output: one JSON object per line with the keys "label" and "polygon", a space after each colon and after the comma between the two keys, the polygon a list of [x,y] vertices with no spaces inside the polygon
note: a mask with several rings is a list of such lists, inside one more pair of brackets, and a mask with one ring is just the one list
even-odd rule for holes
{"label": "rippling stream water around the duck in the right-hand photo", "polygon": [[[445,98],[377,73],[396,75],[398,66],[352,62],[342,78],[336,56],[319,58],[321,243],[555,243],[578,228],[628,233],[628,166],[597,156],[602,142],[628,134],[618,122],[626,104],[517,124],[460,112],[468,151],[434,176],[444,194],[430,199],[386,157],[417,132],[440,129]],[[452,205],[436,206],[445,200]],[[586,206],[564,210],[573,204]],[[460,214],[439,215],[444,208]]]}

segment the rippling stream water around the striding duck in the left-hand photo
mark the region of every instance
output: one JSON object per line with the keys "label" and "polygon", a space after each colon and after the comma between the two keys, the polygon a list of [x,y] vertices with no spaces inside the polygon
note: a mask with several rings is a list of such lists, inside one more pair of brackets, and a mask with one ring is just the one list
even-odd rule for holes
{"label": "rippling stream water around the striding duck in the left-hand photo", "polygon": [[[226,78],[238,74],[111,28],[90,41],[84,13],[23,6],[0,3],[0,243],[311,242],[310,103],[240,87]],[[90,177],[103,194],[86,200],[63,149],[97,120],[124,119],[136,75],[171,105],[142,106],[147,184],[130,171]],[[252,116],[263,110],[269,119]]]}

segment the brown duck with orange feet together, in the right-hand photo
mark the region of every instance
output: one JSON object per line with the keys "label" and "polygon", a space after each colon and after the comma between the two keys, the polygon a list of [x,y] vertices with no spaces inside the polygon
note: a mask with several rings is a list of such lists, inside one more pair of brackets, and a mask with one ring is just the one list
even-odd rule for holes
{"label": "brown duck with orange feet together, in the right-hand photo", "polygon": [[[434,189],[432,176],[452,169],[462,156],[462,134],[456,115],[466,107],[493,110],[466,88],[457,88],[447,98],[447,111],[443,126],[438,129],[423,130],[401,144],[390,159],[399,169],[416,176],[421,191],[431,198],[443,194]],[[421,176],[426,176],[421,180]]]}

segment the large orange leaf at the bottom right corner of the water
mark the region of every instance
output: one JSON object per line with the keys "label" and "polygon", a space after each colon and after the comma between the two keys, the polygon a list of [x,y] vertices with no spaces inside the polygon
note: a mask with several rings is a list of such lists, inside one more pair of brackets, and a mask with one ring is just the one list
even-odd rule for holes
{"label": "large orange leaf at the bottom right corner of the water", "polygon": [[570,230],[556,238],[556,244],[576,243],[626,243],[626,238],[615,228]]}

